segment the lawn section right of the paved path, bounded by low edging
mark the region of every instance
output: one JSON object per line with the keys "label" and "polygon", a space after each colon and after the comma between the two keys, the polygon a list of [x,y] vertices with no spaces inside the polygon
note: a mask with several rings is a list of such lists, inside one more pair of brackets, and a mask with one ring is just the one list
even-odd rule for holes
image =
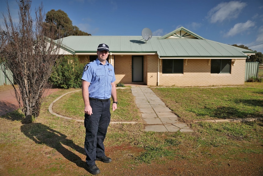
{"label": "lawn section right of the paved path, bounded by low edging", "polygon": [[[263,88],[263,83],[262,88]],[[152,88],[184,121],[263,117],[262,88]]]}

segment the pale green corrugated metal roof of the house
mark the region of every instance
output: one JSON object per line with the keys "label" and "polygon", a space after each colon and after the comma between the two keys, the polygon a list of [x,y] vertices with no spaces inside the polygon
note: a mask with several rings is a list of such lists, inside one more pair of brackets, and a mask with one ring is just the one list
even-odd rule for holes
{"label": "pale green corrugated metal roof of the house", "polygon": [[142,36],[68,36],[62,39],[64,47],[78,53],[96,53],[101,43],[109,46],[110,52],[157,53],[162,57],[247,57],[254,51],[204,39],[181,27],[165,36],[153,36],[146,41]]}

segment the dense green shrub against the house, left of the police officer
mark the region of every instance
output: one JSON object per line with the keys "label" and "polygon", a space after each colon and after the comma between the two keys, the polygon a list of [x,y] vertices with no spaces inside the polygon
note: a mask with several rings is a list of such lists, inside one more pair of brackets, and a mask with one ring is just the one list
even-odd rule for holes
{"label": "dense green shrub against the house, left of the police officer", "polygon": [[65,55],[54,66],[49,81],[59,88],[81,88],[81,77],[85,63],[77,56]]}

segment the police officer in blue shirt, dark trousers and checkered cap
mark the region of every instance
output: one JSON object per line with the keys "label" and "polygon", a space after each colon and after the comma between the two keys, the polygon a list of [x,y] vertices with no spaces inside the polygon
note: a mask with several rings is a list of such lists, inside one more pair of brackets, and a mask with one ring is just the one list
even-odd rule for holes
{"label": "police officer in blue shirt, dark trousers and checkered cap", "polygon": [[107,62],[109,47],[100,44],[97,48],[98,58],[88,63],[82,74],[82,96],[85,104],[86,128],[85,152],[88,171],[99,174],[95,160],[110,163],[105,155],[103,141],[110,124],[110,96],[113,99],[112,110],[117,109],[117,92],[114,81],[114,68]]}

